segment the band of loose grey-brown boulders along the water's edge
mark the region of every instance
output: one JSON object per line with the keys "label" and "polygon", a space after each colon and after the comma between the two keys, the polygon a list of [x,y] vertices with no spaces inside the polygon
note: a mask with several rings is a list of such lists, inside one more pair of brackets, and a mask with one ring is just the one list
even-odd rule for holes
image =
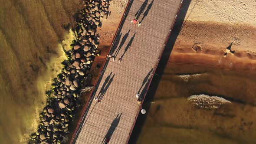
{"label": "band of loose grey-brown boulders along the water's edge", "polygon": [[108,12],[109,0],[85,0],[84,4],[76,17],[77,26],[72,29],[75,39],[66,52],[67,60],[62,62],[62,73],[53,79],[51,90],[46,91],[49,98],[39,115],[37,131],[31,134],[31,143],[61,144],[66,141],[78,97],[98,53],[99,35],[96,32]]}

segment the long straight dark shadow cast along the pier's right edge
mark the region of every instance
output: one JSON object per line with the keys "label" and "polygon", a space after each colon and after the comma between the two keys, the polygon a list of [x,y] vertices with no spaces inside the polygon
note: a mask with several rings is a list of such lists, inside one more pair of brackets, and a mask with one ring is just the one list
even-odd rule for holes
{"label": "long straight dark shadow cast along the pier's right edge", "polygon": [[[177,39],[178,34],[181,31],[182,24],[184,22],[188,7],[190,5],[191,0],[184,0],[184,3],[181,7],[180,13],[177,15],[176,23],[174,24],[171,35],[167,41],[166,48],[164,49],[163,55],[159,61],[158,67],[156,69],[156,74],[154,75],[151,85],[149,86],[146,98],[144,99],[144,103],[142,107],[146,109],[146,111],[150,108],[150,102],[153,100],[156,90],[158,88],[159,82],[161,80],[162,74],[164,73],[164,69],[166,67],[167,61],[171,55],[171,51],[173,49],[174,43]],[[138,141],[138,136],[140,135],[142,126],[147,118],[148,113],[144,115],[138,115],[137,121],[135,123],[135,127],[131,133],[131,137],[128,141],[128,144],[136,144]]]}

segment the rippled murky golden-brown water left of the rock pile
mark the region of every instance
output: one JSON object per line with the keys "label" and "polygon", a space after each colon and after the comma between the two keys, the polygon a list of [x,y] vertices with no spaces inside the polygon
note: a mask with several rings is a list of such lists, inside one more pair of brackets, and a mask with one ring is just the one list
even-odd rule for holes
{"label": "rippled murky golden-brown water left of the rock pile", "polygon": [[0,0],[0,143],[25,143],[82,0]]}

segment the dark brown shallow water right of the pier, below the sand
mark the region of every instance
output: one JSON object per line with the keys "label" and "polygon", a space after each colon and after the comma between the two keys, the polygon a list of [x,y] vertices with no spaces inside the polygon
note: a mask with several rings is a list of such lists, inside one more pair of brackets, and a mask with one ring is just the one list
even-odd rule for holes
{"label": "dark brown shallow water right of the pier, below the sand", "polygon": [[[177,76],[184,74],[200,75],[187,80]],[[153,83],[160,78],[154,77]],[[255,87],[256,72],[168,62],[155,94],[147,95],[147,115],[139,116],[131,138],[138,137],[137,144],[255,144]],[[195,94],[231,103],[199,108],[187,100]]]}

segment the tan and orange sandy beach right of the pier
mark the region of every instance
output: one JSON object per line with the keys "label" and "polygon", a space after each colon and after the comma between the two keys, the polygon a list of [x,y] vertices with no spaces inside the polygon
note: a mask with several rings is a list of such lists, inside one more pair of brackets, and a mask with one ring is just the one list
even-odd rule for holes
{"label": "tan and orange sandy beach right of the pier", "polygon": [[[255,0],[192,0],[171,56],[182,56],[184,61],[194,62],[195,56],[202,56],[197,53],[202,53],[209,56],[204,59],[217,60],[213,63],[202,60],[203,65],[231,62],[231,67],[255,69],[255,8]],[[223,50],[231,42],[235,55],[223,59]]]}

